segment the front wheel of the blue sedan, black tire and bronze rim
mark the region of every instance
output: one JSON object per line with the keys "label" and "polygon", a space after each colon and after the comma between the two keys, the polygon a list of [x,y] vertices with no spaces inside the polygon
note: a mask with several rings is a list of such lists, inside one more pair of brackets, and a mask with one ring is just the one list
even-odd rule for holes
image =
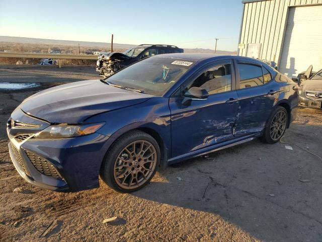
{"label": "front wheel of the blue sedan, black tire and bronze rim", "polygon": [[113,190],[130,193],[146,186],[160,162],[157,142],[142,131],[121,136],[105,156],[101,176]]}

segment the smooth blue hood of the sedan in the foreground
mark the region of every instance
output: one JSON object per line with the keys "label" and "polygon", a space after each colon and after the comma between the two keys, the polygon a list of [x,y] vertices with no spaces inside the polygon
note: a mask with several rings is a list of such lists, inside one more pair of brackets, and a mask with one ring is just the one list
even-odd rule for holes
{"label": "smooth blue hood of the sedan in the foreground", "polygon": [[64,84],[25,99],[20,108],[50,123],[82,123],[88,117],[135,104],[151,95],[109,86],[100,80]]}

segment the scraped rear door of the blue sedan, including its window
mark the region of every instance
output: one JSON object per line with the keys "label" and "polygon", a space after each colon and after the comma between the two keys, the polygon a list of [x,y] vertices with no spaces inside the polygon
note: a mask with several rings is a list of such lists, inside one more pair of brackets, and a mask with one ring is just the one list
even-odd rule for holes
{"label": "scraped rear door of the blue sedan, including its window", "polygon": [[265,128],[279,86],[261,64],[252,61],[234,62],[239,107],[233,135],[239,137],[261,132]]}

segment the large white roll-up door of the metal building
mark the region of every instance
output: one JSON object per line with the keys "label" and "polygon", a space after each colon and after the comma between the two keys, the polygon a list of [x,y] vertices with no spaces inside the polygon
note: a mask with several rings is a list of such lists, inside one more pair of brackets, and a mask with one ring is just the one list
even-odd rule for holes
{"label": "large white roll-up door of the metal building", "polygon": [[279,71],[297,77],[309,65],[322,69],[322,5],[290,7]]}

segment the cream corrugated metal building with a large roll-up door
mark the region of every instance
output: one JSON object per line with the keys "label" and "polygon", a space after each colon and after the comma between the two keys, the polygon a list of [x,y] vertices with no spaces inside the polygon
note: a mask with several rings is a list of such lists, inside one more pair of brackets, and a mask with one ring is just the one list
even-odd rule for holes
{"label": "cream corrugated metal building with a large roll-up door", "polygon": [[322,0],[245,0],[238,54],[274,61],[296,77],[322,69]]}

